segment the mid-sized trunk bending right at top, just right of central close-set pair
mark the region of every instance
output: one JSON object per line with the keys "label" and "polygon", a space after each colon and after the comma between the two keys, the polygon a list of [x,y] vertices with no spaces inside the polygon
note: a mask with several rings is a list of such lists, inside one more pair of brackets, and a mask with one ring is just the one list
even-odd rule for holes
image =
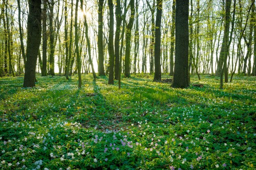
{"label": "mid-sized trunk bending right at top, just right of central close-set pair", "polygon": [[130,20],[126,26],[126,49],[125,49],[125,62],[124,62],[124,76],[130,77],[130,47],[131,47],[131,33],[132,25],[134,22],[134,0],[130,0]]}

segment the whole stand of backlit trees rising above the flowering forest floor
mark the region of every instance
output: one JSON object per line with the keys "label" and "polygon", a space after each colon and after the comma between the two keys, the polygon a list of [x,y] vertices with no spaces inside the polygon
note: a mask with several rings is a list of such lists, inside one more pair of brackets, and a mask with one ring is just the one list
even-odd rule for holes
{"label": "whole stand of backlit trees rising above the flowering forest floor", "polygon": [[174,75],[174,84],[182,79],[175,87],[189,86],[190,74],[200,79],[215,73],[220,88],[223,76],[228,82],[230,74],[231,82],[235,73],[256,75],[255,0],[1,0],[0,5],[0,77],[25,71],[24,82],[34,78],[24,86],[34,86],[36,71],[55,75],[56,66],[66,79],[77,73],[79,87],[81,74],[90,72],[94,79],[96,73],[108,75],[108,84],[119,79],[119,87],[121,73],[150,73],[153,81]]}

